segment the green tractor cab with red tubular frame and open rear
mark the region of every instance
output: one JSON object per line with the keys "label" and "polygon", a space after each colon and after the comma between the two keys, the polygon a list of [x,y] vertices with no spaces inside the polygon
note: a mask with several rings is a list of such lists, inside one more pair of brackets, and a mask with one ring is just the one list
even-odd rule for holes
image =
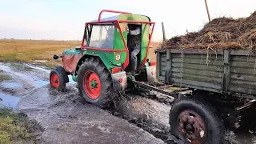
{"label": "green tractor cab with red tubular frame and open rear", "polygon": [[[119,13],[110,18],[101,18],[102,12]],[[98,19],[87,22],[84,37],[82,39],[82,52],[87,50],[99,50],[106,55],[106,59],[113,66],[119,66],[114,70],[131,70],[131,52],[134,46],[139,48],[137,54],[137,75],[150,63],[149,49],[154,22],[150,18],[139,14],[130,14],[113,10],[102,10]],[[153,28],[151,29],[151,26]],[[129,34],[129,30],[139,29],[137,35]],[[112,70],[112,69],[111,69]]]}

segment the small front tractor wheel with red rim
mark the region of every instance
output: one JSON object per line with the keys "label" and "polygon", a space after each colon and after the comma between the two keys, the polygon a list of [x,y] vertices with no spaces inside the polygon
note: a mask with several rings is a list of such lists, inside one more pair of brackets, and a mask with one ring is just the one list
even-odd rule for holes
{"label": "small front tractor wheel with red rim", "polygon": [[54,89],[64,92],[66,90],[68,77],[66,71],[61,66],[56,66],[50,71],[50,86]]}

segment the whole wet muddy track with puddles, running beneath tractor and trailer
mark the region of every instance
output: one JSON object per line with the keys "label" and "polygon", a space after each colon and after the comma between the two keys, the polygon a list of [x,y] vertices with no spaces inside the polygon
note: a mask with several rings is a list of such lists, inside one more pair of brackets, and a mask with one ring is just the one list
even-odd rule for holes
{"label": "whole wet muddy track with puddles, running beneath tractor and trailer", "polygon": [[[121,95],[102,110],[85,102],[71,79],[66,92],[52,90],[49,73],[42,66],[0,63],[0,74],[11,76],[0,81],[0,107],[12,107],[36,120],[44,129],[40,142],[182,143],[169,134],[168,102]],[[224,143],[256,143],[254,130],[227,130]]]}

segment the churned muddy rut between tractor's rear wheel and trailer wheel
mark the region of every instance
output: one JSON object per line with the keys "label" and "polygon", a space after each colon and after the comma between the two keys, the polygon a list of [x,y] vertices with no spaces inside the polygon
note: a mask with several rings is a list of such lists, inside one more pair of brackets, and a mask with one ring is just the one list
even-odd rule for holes
{"label": "churned muddy rut between tractor's rear wheel and trailer wheel", "polygon": [[148,96],[134,93],[118,94],[118,97],[104,110],[146,130],[167,144],[183,144],[184,142],[175,138],[169,131],[169,111],[172,101],[157,93]]}

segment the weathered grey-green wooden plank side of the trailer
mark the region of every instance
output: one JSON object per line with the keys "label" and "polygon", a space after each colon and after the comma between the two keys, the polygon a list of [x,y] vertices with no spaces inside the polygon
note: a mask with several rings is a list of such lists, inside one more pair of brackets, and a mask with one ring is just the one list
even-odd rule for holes
{"label": "weathered grey-green wooden plank side of the trailer", "polygon": [[256,98],[256,54],[252,50],[161,49],[156,53],[160,82]]}

